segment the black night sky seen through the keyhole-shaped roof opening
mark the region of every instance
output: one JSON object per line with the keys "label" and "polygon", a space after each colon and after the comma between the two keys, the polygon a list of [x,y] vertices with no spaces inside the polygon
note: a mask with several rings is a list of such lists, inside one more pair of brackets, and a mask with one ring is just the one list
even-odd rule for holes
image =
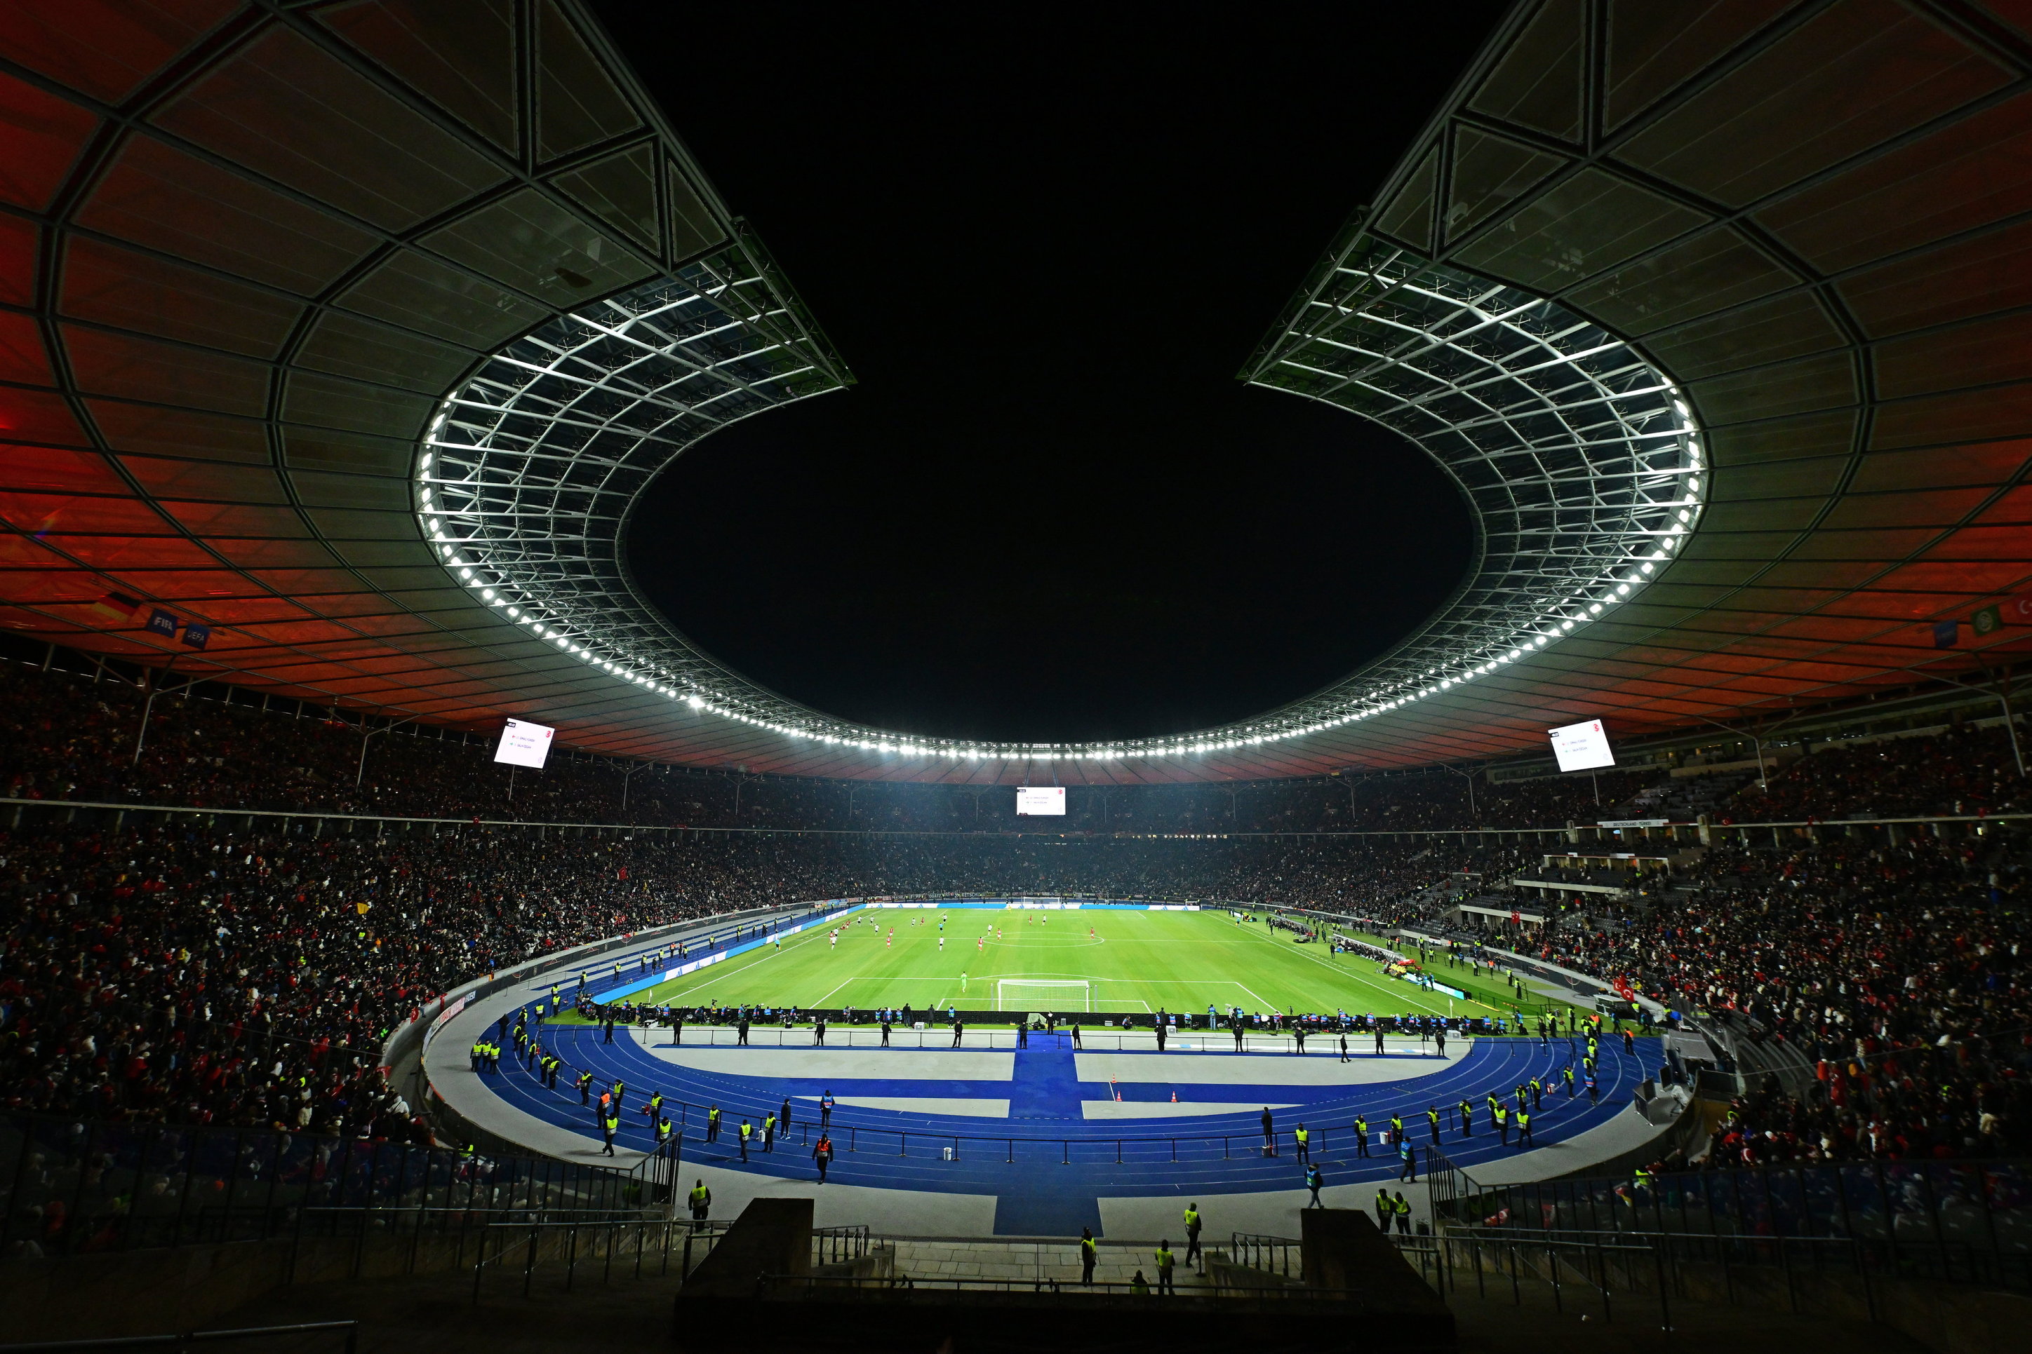
{"label": "black night sky seen through the keyhole-shaped roof opening", "polygon": [[860,380],[687,451],[642,591],[955,737],[1197,729],[1388,650],[1469,564],[1459,495],[1235,371],[1502,8],[595,2]]}

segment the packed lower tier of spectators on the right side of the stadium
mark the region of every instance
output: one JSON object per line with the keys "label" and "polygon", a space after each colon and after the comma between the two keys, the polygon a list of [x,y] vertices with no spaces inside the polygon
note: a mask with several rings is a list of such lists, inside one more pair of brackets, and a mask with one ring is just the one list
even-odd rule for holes
{"label": "packed lower tier of spectators on the right side of the stadium", "polygon": [[2032,1153],[2032,849],[1908,836],[1715,849],[1693,891],[1540,956],[1725,1013],[1813,1070],[1733,1106],[1707,1161]]}

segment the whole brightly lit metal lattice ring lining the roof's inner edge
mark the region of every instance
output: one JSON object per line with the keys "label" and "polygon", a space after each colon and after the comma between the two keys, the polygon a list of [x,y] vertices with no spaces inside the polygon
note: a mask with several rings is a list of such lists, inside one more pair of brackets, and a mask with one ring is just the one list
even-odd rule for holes
{"label": "whole brightly lit metal lattice ring lining the roof's inner edge", "polygon": [[557,648],[792,737],[943,757],[1116,759],[1300,737],[1485,676],[1626,601],[1695,528],[1701,449],[1674,386],[1516,286],[1368,235],[1246,374],[1374,418],[1467,495],[1477,566],[1416,635],[1270,715],[1170,739],[1014,745],[829,719],[717,666],[630,587],[636,493],[687,445],[841,374],[740,250],[575,311],[453,394],[417,457],[427,536],[463,587]]}

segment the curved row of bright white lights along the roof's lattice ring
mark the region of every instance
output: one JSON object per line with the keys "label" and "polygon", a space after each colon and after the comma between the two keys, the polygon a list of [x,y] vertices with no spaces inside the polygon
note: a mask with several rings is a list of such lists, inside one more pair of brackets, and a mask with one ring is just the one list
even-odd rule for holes
{"label": "curved row of bright white lights along the roof's lattice ring", "polygon": [[[1156,741],[1150,741],[1150,743],[1126,743],[1126,745],[1120,745],[1120,747],[1059,749],[1059,747],[1036,747],[1036,745],[1032,745],[1032,747],[1000,745],[998,747],[998,745],[971,745],[971,743],[912,743],[908,739],[898,739],[894,735],[882,735],[880,731],[874,731],[874,729],[853,729],[849,725],[833,725],[831,727],[833,731],[825,731],[825,729],[799,729],[797,725],[780,725],[780,723],[770,721],[770,719],[760,719],[756,715],[748,715],[748,713],[736,708],[725,698],[715,698],[715,694],[709,692],[703,686],[695,686],[693,684],[691,690],[679,690],[679,688],[675,688],[675,686],[669,684],[666,674],[650,672],[650,670],[642,668],[640,664],[630,662],[626,656],[606,656],[599,650],[595,650],[595,648],[591,648],[587,644],[581,644],[583,635],[567,633],[555,621],[547,621],[547,619],[534,615],[532,611],[514,605],[508,599],[508,591],[512,589],[512,585],[502,574],[502,570],[492,568],[486,562],[465,558],[465,554],[461,554],[461,550],[469,552],[471,550],[471,542],[459,542],[459,540],[455,540],[451,536],[445,536],[441,520],[449,518],[449,516],[457,516],[457,510],[433,503],[431,501],[433,499],[433,487],[431,485],[433,483],[457,483],[457,481],[433,481],[431,479],[431,465],[437,459],[437,449],[469,451],[469,447],[463,447],[459,443],[439,443],[437,441],[439,430],[445,426],[445,418],[451,414],[453,400],[445,400],[445,406],[439,410],[437,418],[431,422],[431,432],[427,436],[427,445],[433,451],[427,451],[417,461],[417,481],[419,481],[419,499],[423,503],[423,514],[421,516],[425,520],[425,530],[427,530],[431,542],[437,546],[439,558],[445,562],[445,568],[449,568],[459,579],[459,583],[463,587],[473,589],[480,595],[480,601],[484,601],[488,607],[502,609],[502,613],[510,621],[514,621],[516,625],[522,625],[524,629],[528,629],[530,633],[534,633],[538,639],[549,639],[551,644],[555,644],[565,654],[571,654],[573,658],[579,658],[581,662],[587,662],[593,668],[601,668],[606,672],[612,672],[620,680],[632,682],[632,684],[636,684],[636,686],[640,686],[644,690],[650,690],[650,692],[654,692],[658,696],[666,696],[671,700],[683,700],[693,710],[701,710],[705,715],[719,715],[721,719],[732,719],[732,721],[738,721],[738,723],[744,723],[744,725],[754,725],[756,729],[768,729],[770,733],[780,733],[780,735],[792,737],[792,739],[811,739],[815,743],[827,743],[827,745],[833,745],[833,747],[853,747],[853,749],[876,751],[876,753],[902,753],[906,757],[951,757],[955,761],[981,761],[981,759],[1118,761],[1122,757],[1183,757],[1183,755],[1189,755],[1189,753],[1191,755],[1217,753],[1217,751],[1227,751],[1227,749],[1233,749],[1233,747],[1256,747],[1260,743],[1282,743],[1286,739],[1303,739],[1303,737],[1313,735],[1313,733],[1325,733],[1327,729],[1337,729],[1341,725],[1349,725],[1349,723],[1355,723],[1355,721],[1372,719],[1376,715],[1384,715],[1388,710],[1402,708],[1402,706],[1410,704],[1412,700],[1426,700],[1426,698],[1437,696],[1441,692],[1453,690],[1455,686],[1463,686],[1465,682],[1471,682],[1477,676],[1487,676],[1487,674],[1496,672],[1498,668],[1502,668],[1504,664],[1518,662],[1526,654],[1534,654],[1536,650],[1542,650],[1544,646],[1552,644],[1554,639],[1561,639],[1567,633],[1571,633],[1577,625],[1587,625],[1589,621],[1593,621],[1595,617],[1599,617],[1609,607],[1617,605],[1620,601],[1626,601],[1630,597],[1632,589],[1642,587],[1650,579],[1650,574],[1656,570],[1656,566],[1660,562],[1664,562],[1674,548],[1678,548],[1680,538],[1685,538],[1689,526],[1693,524],[1695,512],[1699,512],[1699,501],[1701,501],[1701,473],[1703,473],[1699,432],[1693,426],[1693,414],[1687,410],[1687,404],[1680,398],[1678,388],[1676,386],[1668,386],[1668,390],[1672,394],[1672,408],[1678,412],[1678,418],[1680,418],[1680,424],[1682,424],[1680,428],[1676,428],[1676,432],[1687,438],[1687,471],[1685,471],[1687,473],[1687,495],[1676,501],[1678,503],[1678,522],[1674,522],[1668,532],[1662,532],[1662,534],[1656,536],[1658,544],[1656,544],[1656,548],[1648,556],[1644,556],[1644,554],[1632,554],[1628,560],[1624,560],[1626,564],[1630,564],[1630,572],[1626,577],[1613,581],[1613,585],[1607,587],[1607,589],[1603,589],[1601,595],[1597,595],[1597,597],[1573,597],[1569,603],[1565,603],[1565,607],[1548,611],[1546,615],[1538,617],[1536,621],[1532,621],[1532,625],[1534,627],[1542,627],[1542,629],[1526,629],[1526,631],[1514,635],[1512,637],[1512,648],[1508,652],[1498,650],[1498,652],[1487,654],[1487,656],[1483,656],[1479,660],[1471,660],[1471,662],[1463,664],[1455,672],[1443,672],[1441,668],[1433,668],[1422,678],[1418,678],[1418,682],[1422,682],[1422,686],[1418,686],[1416,682],[1396,682],[1396,684],[1386,686],[1382,690],[1384,692],[1396,690],[1398,694],[1388,696],[1388,698],[1370,696],[1366,704],[1361,704],[1357,708],[1349,708],[1343,715],[1321,719],[1321,721],[1315,721],[1315,723],[1309,723],[1309,725],[1300,725],[1300,727],[1294,727],[1294,729],[1264,731],[1260,725],[1256,725],[1256,727],[1250,727],[1248,733],[1237,733],[1237,735],[1229,735],[1229,737],[1156,739]],[[1672,503],[1664,503],[1664,507],[1672,507]],[[494,583],[490,583],[488,581],[490,572],[502,574],[502,577],[498,577]],[[1603,579],[1607,579],[1607,574],[1603,574]],[[1567,607],[1571,607],[1571,611],[1567,611]],[[1416,690],[1406,690],[1406,688],[1412,688],[1412,686],[1416,686]]]}

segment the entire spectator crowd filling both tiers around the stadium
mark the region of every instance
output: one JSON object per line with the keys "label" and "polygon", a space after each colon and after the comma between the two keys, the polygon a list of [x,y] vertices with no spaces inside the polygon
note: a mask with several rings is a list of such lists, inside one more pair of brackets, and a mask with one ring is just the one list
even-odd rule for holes
{"label": "entire spectator crowd filling both tiers around the stadium", "polygon": [[[1544,849],[1298,832],[1469,816],[1557,826],[1593,794],[1585,780],[1477,786],[1469,814],[1457,775],[1085,790],[1061,830],[1018,834],[986,790],[664,767],[624,782],[616,763],[569,757],[508,802],[504,780],[494,798],[486,747],[400,733],[372,739],[356,786],[358,727],[199,698],[158,700],[136,759],[138,719],[132,686],[0,664],[0,784],[22,800],[465,822],[333,834],[305,820],[14,816],[0,834],[8,1108],[421,1139],[417,1106],[378,1072],[382,1039],[431,997],[551,950],[736,909],[941,891],[1441,926],[1467,897],[1522,901],[1508,879]],[[1800,818],[2020,802],[2008,747],[1999,759],[1989,733],[1815,753],[1768,794]],[[591,836],[471,822],[510,812],[780,830]],[[886,832],[790,830],[801,826]],[[1674,863],[1670,887],[1561,913],[1530,944],[1542,960],[1719,1013],[1748,1045],[1790,1060],[1792,1084],[1743,1098],[1709,1161],[2024,1153],[2028,865],[2026,838],[2004,824],[1717,844]]]}

